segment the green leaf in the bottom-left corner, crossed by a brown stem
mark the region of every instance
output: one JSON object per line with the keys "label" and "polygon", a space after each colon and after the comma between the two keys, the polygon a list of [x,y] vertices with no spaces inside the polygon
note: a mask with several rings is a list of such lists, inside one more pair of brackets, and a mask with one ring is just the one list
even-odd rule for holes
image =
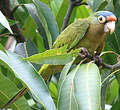
{"label": "green leaf in the bottom-left corner, crossed by a brown stem", "polygon": [[[0,73],[0,107],[6,104],[18,91],[17,86]],[[12,110],[31,110],[24,97],[7,106],[7,108]]]}

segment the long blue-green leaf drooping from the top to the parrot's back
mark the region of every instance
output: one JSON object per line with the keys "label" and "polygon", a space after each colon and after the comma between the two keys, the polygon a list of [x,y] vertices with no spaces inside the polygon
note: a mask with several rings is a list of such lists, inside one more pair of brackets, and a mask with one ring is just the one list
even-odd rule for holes
{"label": "long blue-green leaf drooping from the top to the parrot's back", "polygon": [[38,8],[38,11],[40,11],[42,15],[45,17],[45,20],[48,25],[48,29],[51,33],[52,42],[54,42],[56,40],[56,37],[59,35],[59,31],[53,13],[46,4],[43,4],[39,0],[34,0],[34,1],[35,1],[35,5]]}

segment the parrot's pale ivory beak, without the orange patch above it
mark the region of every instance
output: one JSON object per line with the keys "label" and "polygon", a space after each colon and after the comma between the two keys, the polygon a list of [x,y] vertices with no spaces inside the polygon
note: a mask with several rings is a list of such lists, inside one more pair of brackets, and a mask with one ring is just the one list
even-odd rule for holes
{"label": "parrot's pale ivory beak, without the orange patch above it", "polygon": [[115,21],[109,21],[104,26],[104,32],[112,34],[115,31]]}

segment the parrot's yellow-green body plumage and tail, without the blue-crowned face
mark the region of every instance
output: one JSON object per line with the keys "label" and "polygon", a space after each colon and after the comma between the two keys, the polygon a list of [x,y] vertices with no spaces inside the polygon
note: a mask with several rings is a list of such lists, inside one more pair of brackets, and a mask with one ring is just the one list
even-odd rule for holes
{"label": "parrot's yellow-green body plumage and tail, without the blue-crowned face", "polygon": [[[60,48],[68,44],[68,51],[85,47],[91,54],[101,52],[105,44],[106,33],[104,24],[100,24],[96,16],[78,19],[70,24],[56,39],[53,48]],[[78,60],[79,58],[77,58]],[[79,62],[79,60],[77,61]],[[46,80],[56,72],[60,72],[64,65],[43,65],[39,71]]]}

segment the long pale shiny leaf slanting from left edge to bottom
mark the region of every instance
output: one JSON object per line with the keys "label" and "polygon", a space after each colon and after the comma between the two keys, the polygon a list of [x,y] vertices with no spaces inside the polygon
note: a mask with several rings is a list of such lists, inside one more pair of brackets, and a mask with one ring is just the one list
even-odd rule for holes
{"label": "long pale shiny leaf slanting from left edge to bottom", "polygon": [[0,60],[26,85],[39,104],[45,109],[56,110],[44,80],[29,62],[15,53],[7,52],[6,55],[2,51]]}

